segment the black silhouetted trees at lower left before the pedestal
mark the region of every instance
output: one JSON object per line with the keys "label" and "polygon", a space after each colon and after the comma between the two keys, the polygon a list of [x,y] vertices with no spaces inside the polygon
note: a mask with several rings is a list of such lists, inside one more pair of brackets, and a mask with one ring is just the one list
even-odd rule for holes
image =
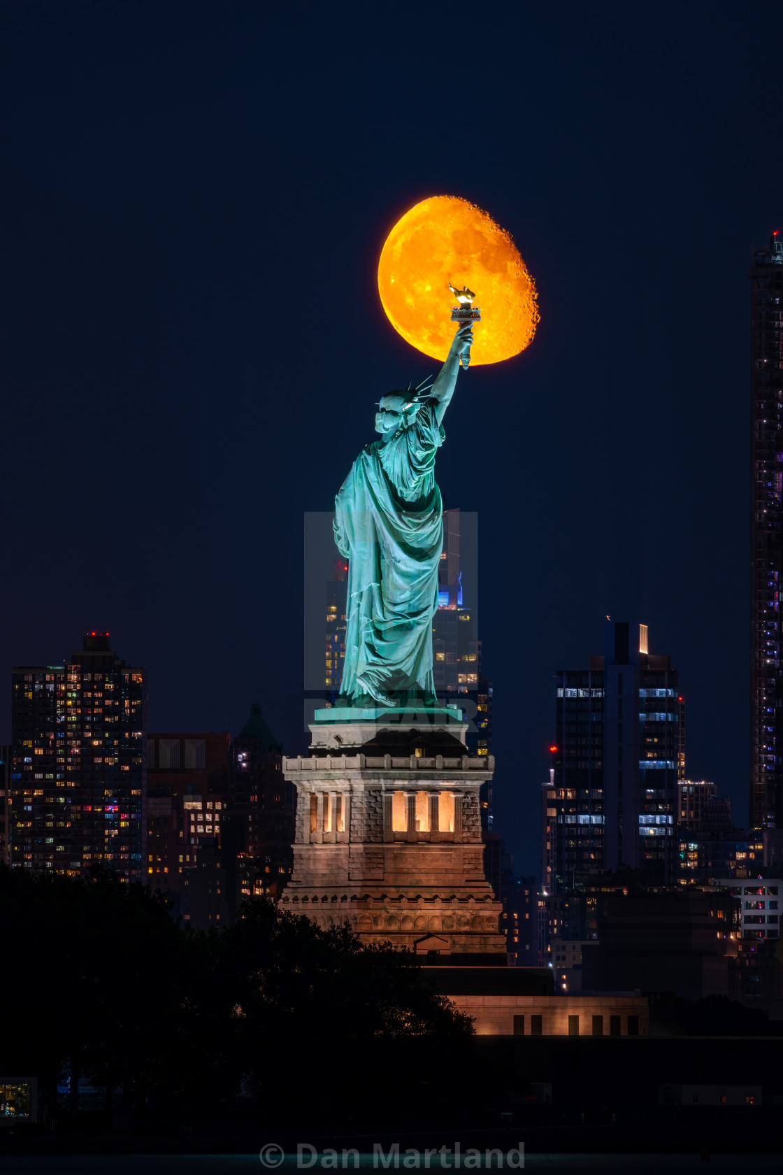
{"label": "black silhouetted trees at lower left before the pedestal", "polygon": [[383,1038],[473,1033],[410,953],[322,931],[264,898],[236,925],[197,932],[160,893],[100,868],[4,867],[0,936],[5,1067],[49,1088],[63,1070],[122,1087],[131,1108],[156,1092],[194,1106],[207,1089],[259,1088],[271,1058],[283,1076],[303,1049],[336,1040],[345,1054]]}

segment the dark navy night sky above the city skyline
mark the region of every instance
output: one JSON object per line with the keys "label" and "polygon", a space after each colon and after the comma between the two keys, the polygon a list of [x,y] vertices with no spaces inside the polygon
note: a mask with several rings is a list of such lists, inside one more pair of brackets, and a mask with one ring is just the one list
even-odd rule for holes
{"label": "dark navy night sky above the city skyline", "polygon": [[[386,231],[465,196],[541,324],[446,417],[479,513],[495,808],[539,871],[552,673],[646,619],[747,818],[748,264],[783,221],[779,6],[0,8],[0,666],[86,627],[150,728],[302,730],[303,516],[432,362]],[[9,694],[7,693],[6,697]],[[0,737],[9,736],[7,706]]]}

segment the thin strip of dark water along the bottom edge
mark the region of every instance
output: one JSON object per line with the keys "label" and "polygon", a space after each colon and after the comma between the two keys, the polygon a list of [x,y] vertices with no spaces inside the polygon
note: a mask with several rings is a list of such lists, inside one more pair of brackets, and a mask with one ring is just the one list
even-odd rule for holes
{"label": "thin strip of dark water along the bottom edge", "polygon": [[[362,1170],[384,1170],[372,1154],[362,1155]],[[245,1175],[258,1171],[263,1175],[270,1168],[264,1167],[257,1154],[254,1155],[9,1155],[0,1160],[2,1175]],[[281,1175],[289,1175],[297,1169],[296,1156],[286,1157],[276,1168]],[[320,1162],[306,1168],[313,1173],[324,1169]],[[337,1170],[342,1170],[342,1163]],[[347,1168],[353,1170],[353,1162]],[[401,1156],[399,1168],[393,1162],[390,1171],[404,1170]],[[421,1157],[420,1168],[424,1167]],[[441,1170],[439,1156],[430,1159],[430,1169]],[[453,1164],[450,1161],[450,1169]],[[493,1168],[494,1169],[494,1168]],[[504,1167],[504,1169],[506,1169]],[[641,1171],[642,1175],[681,1175],[686,1171],[710,1171],[721,1175],[767,1175],[783,1173],[783,1159],[779,1155],[713,1155],[709,1162],[700,1155],[532,1155],[525,1156],[525,1170],[533,1175],[614,1175],[614,1173]]]}

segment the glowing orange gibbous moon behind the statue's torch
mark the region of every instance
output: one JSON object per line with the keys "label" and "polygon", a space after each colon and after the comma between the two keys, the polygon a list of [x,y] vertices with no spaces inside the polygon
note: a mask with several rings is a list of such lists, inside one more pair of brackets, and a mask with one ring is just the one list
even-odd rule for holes
{"label": "glowing orange gibbous moon behind the statue's torch", "polygon": [[511,235],[460,196],[431,196],[410,208],[386,237],[378,293],[403,338],[445,360],[457,329],[448,283],[475,293],[471,365],[519,355],[539,321],[535,283]]}

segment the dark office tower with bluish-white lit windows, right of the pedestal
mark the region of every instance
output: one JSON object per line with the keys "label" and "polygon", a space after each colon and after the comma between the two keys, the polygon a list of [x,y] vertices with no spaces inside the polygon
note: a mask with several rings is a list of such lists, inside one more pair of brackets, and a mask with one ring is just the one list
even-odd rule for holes
{"label": "dark office tower with bluish-white lit windows, right of the pedestal", "polygon": [[541,787],[551,894],[617,866],[674,881],[683,700],[670,658],[648,652],[647,642],[647,625],[636,647],[629,624],[607,620],[603,656],[556,674],[553,772]]}

